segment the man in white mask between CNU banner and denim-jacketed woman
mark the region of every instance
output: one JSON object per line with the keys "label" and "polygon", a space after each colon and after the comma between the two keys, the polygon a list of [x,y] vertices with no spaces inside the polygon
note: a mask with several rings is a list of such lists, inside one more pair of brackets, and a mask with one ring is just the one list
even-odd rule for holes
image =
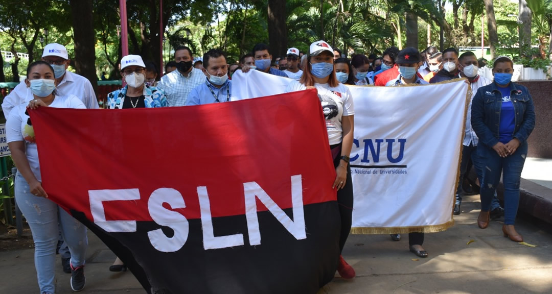
{"label": "man in white mask between CNU banner and denim-jacketed woman", "polygon": [[[489,79],[482,77],[478,74],[479,67],[477,67],[477,57],[473,52],[464,52],[460,57],[458,57],[459,65],[459,76],[460,78],[467,78],[471,84],[471,100],[474,99],[477,89],[492,83]],[[453,213],[455,215],[460,214],[460,205],[462,203],[461,191],[462,183],[464,181],[464,174],[468,169],[468,162],[471,161],[474,164],[475,171],[477,173],[477,178],[479,178],[479,183],[483,178],[483,167],[481,164],[481,159],[477,156],[477,143],[479,143],[479,138],[475,135],[474,130],[471,128],[471,100],[468,106],[468,114],[466,115],[466,131],[464,133],[464,141],[462,142],[462,161],[460,162],[460,180],[458,182],[458,189],[456,191],[456,203],[454,205]],[[498,199],[495,196],[491,202],[491,218],[499,218],[504,215],[504,209],[498,204]]]}

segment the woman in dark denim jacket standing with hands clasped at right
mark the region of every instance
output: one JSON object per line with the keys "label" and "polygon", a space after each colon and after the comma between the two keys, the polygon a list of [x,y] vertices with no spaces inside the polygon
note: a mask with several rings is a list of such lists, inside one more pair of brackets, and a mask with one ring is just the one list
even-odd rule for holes
{"label": "woman in dark denim jacket standing with hands clasped at right", "polygon": [[527,157],[527,138],[535,127],[535,108],[529,91],[511,82],[513,62],[498,57],[492,68],[495,81],[479,88],[471,106],[471,126],[482,159],[481,211],[477,225],[489,226],[491,199],[500,182],[504,184],[504,225],[502,232],[515,242],[523,242],[514,223],[519,205],[519,181]]}

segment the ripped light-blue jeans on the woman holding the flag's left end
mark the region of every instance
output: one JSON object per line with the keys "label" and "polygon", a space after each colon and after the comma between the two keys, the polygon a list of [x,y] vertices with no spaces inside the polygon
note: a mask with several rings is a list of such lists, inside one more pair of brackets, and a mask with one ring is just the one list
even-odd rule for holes
{"label": "ripped light-blue jeans on the woman holding the flag's left end", "polygon": [[74,268],[84,265],[84,255],[88,247],[87,229],[53,201],[31,194],[29,184],[19,173],[15,177],[15,199],[33,233],[40,293],[54,293],[59,228],[61,227],[63,239],[71,252],[71,265]]}

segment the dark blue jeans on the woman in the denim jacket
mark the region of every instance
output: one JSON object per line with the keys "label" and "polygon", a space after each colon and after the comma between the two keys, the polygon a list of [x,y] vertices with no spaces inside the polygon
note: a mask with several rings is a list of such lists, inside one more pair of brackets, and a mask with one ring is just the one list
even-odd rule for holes
{"label": "dark blue jeans on the woman in the denim jacket", "polygon": [[477,153],[482,158],[483,181],[481,182],[481,211],[489,211],[492,195],[496,193],[496,187],[504,184],[504,223],[516,222],[519,206],[519,182],[525,158],[527,157],[527,142],[523,142],[516,153],[505,158],[498,156],[495,150],[484,145],[477,147]]}

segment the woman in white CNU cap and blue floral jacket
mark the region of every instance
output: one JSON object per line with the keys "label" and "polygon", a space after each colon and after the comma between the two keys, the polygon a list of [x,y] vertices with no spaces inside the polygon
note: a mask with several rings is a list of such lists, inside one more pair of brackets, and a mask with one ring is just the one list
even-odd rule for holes
{"label": "woman in white CNU cap and blue floral jacket", "polygon": [[126,86],[108,94],[109,109],[157,108],[168,106],[163,89],[145,84],[146,66],[139,55],[121,59],[121,76]]}

